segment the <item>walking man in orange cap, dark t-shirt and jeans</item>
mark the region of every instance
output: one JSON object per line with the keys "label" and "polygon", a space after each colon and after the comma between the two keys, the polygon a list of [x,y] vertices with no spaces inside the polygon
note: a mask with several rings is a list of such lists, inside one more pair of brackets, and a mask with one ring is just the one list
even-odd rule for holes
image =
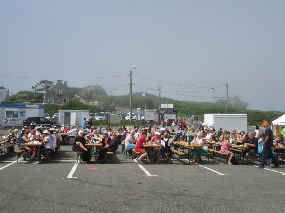
{"label": "walking man in orange cap, dark t-shirt and jeans", "polygon": [[263,121],[263,127],[265,128],[265,132],[264,132],[263,145],[262,145],[263,149],[261,151],[261,162],[260,162],[260,166],[258,167],[259,169],[264,168],[264,163],[265,163],[265,158],[266,158],[267,153],[269,157],[272,159],[272,162],[274,164],[272,168],[279,167],[278,161],[274,157],[271,151],[271,147],[273,146],[273,133],[272,133],[272,130],[268,126],[269,126],[268,122],[266,120]]}

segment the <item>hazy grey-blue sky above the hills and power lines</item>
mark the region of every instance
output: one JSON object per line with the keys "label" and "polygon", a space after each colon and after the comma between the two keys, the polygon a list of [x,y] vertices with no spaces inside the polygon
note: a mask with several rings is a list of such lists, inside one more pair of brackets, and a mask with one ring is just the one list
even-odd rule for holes
{"label": "hazy grey-blue sky above the hills and power lines", "polygon": [[63,79],[129,94],[137,66],[133,92],[158,94],[156,83],[162,97],[213,102],[228,83],[248,109],[284,111],[284,11],[277,0],[0,1],[0,85]]}

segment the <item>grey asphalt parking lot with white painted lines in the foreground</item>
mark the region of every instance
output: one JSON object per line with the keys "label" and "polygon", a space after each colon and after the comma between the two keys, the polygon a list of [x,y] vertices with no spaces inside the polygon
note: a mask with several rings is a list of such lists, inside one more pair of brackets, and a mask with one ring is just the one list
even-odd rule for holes
{"label": "grey asphalt parking lot with white painted lines in the foreground", "polygon": [[[285,166],[141,164],[121,156],[75,164],[72,146],[50,163],[0,156],[1,212],[282,212]],[[143,161],[144,163],[145,161]],[[185,160],[185,163],[189,162]],[[255,162],[255,165],[259,165]]]}

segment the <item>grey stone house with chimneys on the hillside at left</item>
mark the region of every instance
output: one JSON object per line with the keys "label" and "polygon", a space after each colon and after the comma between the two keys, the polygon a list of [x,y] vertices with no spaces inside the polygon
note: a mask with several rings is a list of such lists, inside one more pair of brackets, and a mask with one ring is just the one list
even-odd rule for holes
{"label": "grey stone house with chimneys on the hillside at left", "polygon": [[51,86],[46,94],[46,103],[50,104],[65,104],[70,99],[76,99],[75,92],[67,87],[66,81],[56,80],[56,85]]}

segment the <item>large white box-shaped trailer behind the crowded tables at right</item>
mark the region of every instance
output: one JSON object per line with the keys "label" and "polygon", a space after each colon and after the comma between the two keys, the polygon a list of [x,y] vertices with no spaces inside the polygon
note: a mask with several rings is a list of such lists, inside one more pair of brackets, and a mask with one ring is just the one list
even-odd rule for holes
{"label": "large white box-shaped trailer behind the crowded tables at right", "polygon": [[222,128],[232,132],[232,130],[247,132],[246,114],[204,114],[203,126],[215,127],[216,130]]}

